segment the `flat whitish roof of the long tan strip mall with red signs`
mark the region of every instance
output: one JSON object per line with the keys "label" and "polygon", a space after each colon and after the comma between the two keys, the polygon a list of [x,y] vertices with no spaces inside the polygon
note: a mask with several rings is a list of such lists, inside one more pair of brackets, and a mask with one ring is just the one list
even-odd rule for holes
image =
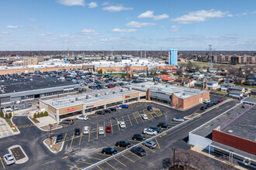
{"label": "flat whitish roof of the long tan strip mall with red signs", "polygon": [[[105,100],[114,100],[117,97],[123,97],[123,95],[130,93],[140,93],[137,90],[129,90],[126,88],[112,88],[111,90],[99,90],[92,93],[82,93],[78,95],[72,95],[67,97],[60,97],[57,99],[43,100],[43,103],[59,109],[64,107],[72,107],[79,104],[94,104],[96,102]],[[96,95],[99,95],[96,97]],[[88,96],[88,98],[86,97]],[[127,98],[129,99],[129,98]],[[114,101],[113,101],[114,102]]]}

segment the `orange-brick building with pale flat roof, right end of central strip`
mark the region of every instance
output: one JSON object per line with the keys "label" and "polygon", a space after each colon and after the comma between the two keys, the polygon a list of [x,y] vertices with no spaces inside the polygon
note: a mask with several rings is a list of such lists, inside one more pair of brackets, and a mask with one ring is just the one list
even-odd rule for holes
{"label": "orange-brick building with pale flat roof, right end of central strip", "polygon": [[147,100],[155,100],[181,110],[188,109],[209,99],[208,90],[178,87],[166,83],[144,82],[126,86],[133,90],[147,92]]}

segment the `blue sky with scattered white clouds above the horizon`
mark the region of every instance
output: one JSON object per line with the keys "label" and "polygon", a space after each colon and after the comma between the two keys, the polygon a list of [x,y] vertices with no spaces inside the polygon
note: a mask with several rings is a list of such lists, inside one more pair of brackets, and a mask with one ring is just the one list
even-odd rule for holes
{"label": "blue sky with scattered white clouds above the horizon", "polygon": [[255,0],[1,0],[0,50],[256,50]]}

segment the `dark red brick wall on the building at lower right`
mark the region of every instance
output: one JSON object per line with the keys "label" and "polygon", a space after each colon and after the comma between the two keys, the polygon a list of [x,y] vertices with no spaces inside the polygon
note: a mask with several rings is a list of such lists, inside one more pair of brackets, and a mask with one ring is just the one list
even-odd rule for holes
{"label": "dark red brick wall on the building at lower right", "polygon": [[222,131],[213,130],[213,141],[220,142],[223,145],[229,145],[233,148],[247,151],[253,155],[256,155],[256,142],[250,141],[244,138],[227,134]]}

